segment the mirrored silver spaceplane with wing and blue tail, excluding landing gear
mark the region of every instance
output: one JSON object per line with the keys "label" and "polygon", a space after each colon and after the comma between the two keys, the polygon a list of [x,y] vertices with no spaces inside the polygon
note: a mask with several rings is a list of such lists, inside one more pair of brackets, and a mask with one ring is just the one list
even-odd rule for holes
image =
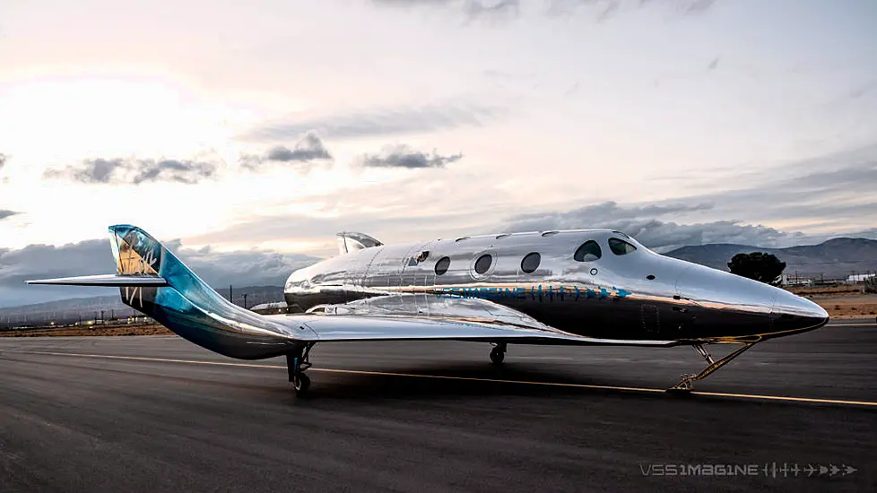
{"label": "mirrored silver spaceplane with wing and blue tail, excluding landing gear", "polygon": [[406,245],[343,233],[342,255],[292,272],[285,284],[291,311],[308,313],[281,316],[231,304],[142,229],[117,225],[110,233],[117,275],[44,281],[120,286],[126,304],[243,359],[363,339],[699,347],[828,321],[821,307],[786,290],[658,255],[605,229]]}

